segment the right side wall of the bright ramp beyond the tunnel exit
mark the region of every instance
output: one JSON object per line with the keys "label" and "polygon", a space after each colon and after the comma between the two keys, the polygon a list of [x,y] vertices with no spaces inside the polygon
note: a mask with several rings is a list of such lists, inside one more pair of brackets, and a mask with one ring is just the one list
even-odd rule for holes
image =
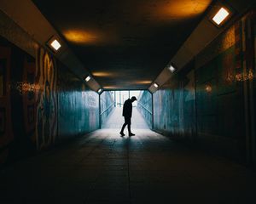
{"label": "right side wall of the bright ramp beyond the tunnel exit", "polygon": [[137,99],[137,110],[148,123],[148,127],[152,127],[152,94],[149,91],[142,91]]}

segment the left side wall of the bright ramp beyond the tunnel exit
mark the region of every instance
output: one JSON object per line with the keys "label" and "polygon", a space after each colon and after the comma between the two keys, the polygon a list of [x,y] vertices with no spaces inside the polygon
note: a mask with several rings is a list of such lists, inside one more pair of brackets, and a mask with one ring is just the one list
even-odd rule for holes
{"label": "left side wall of the bright ramp beyond the tunnel exit", "polygon": [[114,99],[109,91],[104,91],[101,96],[101,125],[107,122],[108,116],[113,112],[114,109]]}

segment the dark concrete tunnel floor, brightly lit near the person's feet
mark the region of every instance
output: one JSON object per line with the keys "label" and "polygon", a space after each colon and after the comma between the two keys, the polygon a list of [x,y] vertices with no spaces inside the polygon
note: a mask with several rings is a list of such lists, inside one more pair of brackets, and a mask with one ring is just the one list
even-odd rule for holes
{"label": "dark concrete tunnel floor, brightly lit near the person's feet", "polygon": [[98,130],[2,169],[0,203],[255,203],[246,167],[134,132]]}

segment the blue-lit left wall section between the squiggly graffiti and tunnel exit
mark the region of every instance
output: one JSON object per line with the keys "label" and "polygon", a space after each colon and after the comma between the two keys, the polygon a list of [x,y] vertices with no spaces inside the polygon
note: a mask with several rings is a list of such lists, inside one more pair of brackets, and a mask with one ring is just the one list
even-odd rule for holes
{"label": "blue-lit left wall section between the squiggly graffiti and tunnel exit", "polygon": [[99,95],[67,68],[58,72],[58,135],[72,137],[99,128]]}

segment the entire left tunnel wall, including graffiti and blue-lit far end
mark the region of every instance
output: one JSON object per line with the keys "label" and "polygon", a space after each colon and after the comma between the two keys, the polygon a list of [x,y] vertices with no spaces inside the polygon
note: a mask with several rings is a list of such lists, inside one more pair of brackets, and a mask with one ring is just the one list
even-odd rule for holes
{"label": "entire left tunnel wall, including graffiti and blue-lit far end", "polygon": [[0,165],[99,127],[99,97],[43,48],[0,37]]}

